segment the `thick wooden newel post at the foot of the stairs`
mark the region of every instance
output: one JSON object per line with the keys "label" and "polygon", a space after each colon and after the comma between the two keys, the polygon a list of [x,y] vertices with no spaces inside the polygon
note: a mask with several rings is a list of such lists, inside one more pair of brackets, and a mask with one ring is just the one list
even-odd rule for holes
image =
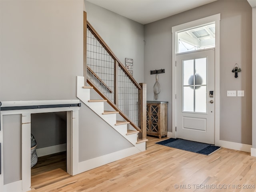
{"label": "thick wooden newel post at the foot of the stairs", "polygon": [[145,140],[147,138],[147,130],[146,130],[146,107],[147,107],[147,85],[146,83],[140,83],[141,89],[138,90],[139,96],[139,127],[141,132],[138,134],[139,139]]}

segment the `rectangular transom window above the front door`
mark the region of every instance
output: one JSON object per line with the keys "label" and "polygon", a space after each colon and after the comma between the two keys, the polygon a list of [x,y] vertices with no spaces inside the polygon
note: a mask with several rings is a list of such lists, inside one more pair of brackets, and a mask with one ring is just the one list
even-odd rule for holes
{"label": "rectangular transom window above the front door", "polygon": [[176,53],[215,47],[215,22],[177,33]]}

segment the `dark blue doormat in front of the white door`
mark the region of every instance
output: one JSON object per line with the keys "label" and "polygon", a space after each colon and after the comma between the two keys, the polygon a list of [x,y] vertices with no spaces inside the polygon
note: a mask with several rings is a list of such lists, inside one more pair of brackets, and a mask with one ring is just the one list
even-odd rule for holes
{"label": "dark blue doormat in front of the white door", "polygon": [[173,147],[177,149],[182,149],[185,151],[190,151],[190,152],[199,153],[203,155],[210,155],[221,148],[215,145],[188,141],[188,140],[179,139],[179,138],[177,139],[170,138],[164,141],[157,142],[156,144]]}

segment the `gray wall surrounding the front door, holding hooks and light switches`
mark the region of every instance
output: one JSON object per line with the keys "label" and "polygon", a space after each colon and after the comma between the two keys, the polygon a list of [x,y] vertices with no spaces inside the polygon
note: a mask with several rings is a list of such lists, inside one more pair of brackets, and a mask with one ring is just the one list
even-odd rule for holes
{"label": "gray wall surrounding the front door, holding hooks and light switches", "polygon": [[[150,70],[165,68],[158,76],[158,100],[169,102],[168,131],[172,131],[172,39],[171,28],[220,13],[220,140],[252,144],[252,8],[246,0],[218,0],[150,23],[144,27],[144,79],[147,98],[153,100],[155,76]],[[242,72],[231,72],[238,63]],[[244,97],[227,97],[227,90],[244,90]]]}

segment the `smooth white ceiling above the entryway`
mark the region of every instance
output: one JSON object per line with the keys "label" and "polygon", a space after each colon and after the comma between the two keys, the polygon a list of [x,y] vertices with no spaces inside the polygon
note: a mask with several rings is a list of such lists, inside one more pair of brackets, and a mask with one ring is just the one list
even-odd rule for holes
{"label": "smooth white ceiling above the entryway", "polygon": [[[126,18],[148,24],[216,0],[86,0]],[[254,1],[254,0],[253,0]]]}

